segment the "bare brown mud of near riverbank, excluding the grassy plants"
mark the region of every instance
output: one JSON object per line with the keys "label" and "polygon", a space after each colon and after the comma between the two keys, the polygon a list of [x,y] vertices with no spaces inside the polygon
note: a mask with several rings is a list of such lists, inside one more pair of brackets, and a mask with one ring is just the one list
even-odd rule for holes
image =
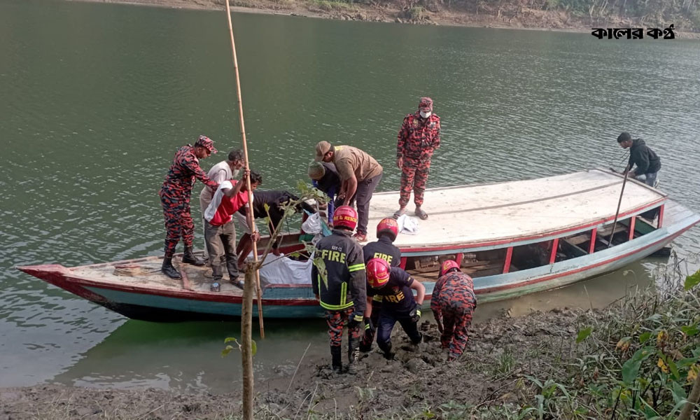
{"label": "bare brown mud of near riverbank, excluding the grassy plants", "polygon": [[[425,342],[409,344],[397,328],[395,360],[376,349],[363,356],[356,376],[333,374],[325,357],[279,366],[279,377],[257,384],[261,416],[306,418],[311,412],[339,417],[401,414],[422,407],[489,404],[514,399],[516,354],[547,354],[544,344],[570,346],[582,311],[555,309],[521,318],[505,314],[475,325],[462,360],[445,363],[434,325],[423,323]],[[398,325],[397,325],[398,327]],[[375,346],[376,347],[376,346]],[[302,354],[298,355],[301,359]],[[225,360],[233,362],[233,360]],[[222,365],[225,365],[222,362]],[[293,379],[292,379],[293,378]],[[239,378],[232,378],[239,381]],[[290,385],[291,384],[291,385]],[[239,395],[176,394],[148,389],[97,389],[38,385],[0,390],[0,419],[228,419],[239,413]],[[434,409],[434,408],[433,408]],[[302,416],[302,417],[299,417]]]}

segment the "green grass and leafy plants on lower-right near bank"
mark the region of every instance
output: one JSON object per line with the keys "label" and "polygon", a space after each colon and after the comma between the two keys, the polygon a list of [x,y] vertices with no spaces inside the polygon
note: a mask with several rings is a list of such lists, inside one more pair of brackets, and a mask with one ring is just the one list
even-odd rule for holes
{"label": "green grass and leafy plants on lower-right near bank", "polygon": [[[360,403],[349,411],[319,413],[304,404],[289,417],[260,407],[256,418],[678,419],[700,374],[700,272],[684,274],[687,262],[674,256],[654,273],[651,290],[634,290],[605,309],[582,312],[570,338],[524,349],[505,346],[455,366],[456,377],[480,370],[503,384],[478,404],[423,399],[377,412],[374,389],[358,388]],[[698,415],[695,407],[689,419]]]}

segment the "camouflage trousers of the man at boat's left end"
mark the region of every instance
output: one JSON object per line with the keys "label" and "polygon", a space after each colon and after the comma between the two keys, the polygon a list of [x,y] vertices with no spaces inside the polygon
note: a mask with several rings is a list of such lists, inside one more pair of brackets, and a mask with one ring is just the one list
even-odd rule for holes
{"label": "camouflage trousers of the man at boat's left end", "polygon": [[195,238],[195,223],[190,214],[190,192],[181,194],[172,190],[160,190],[160,203],[165,218],[165,258],[172,258],[175,247],[182,238],[191,247]]}

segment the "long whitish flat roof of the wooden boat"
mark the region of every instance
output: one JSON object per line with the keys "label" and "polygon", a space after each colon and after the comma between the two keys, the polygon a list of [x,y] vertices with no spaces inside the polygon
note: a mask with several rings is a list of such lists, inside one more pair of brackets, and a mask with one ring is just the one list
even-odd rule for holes
{"label": "long whitish flat roof of the wooden boat", "polygon": [[[399,248],[424,248],[517,240],[596,223],[615,216],[622,176],[601,169],[540,179],[426,190],[429,217],[418,235],[399,235]],[[620,214],[664,200],[666,195],[628,180]],[[374,226],[398,209],[398,192],[377,193],[370,202],[367,240]],[[412,216],[413,204],[407,214]]]}

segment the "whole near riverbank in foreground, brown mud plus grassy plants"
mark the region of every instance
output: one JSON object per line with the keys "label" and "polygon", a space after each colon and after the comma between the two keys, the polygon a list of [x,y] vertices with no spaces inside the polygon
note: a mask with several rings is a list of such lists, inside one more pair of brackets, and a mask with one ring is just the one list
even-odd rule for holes
{"label": "whole near riverbank in foreground, brown mud plus grassy plants", "polygon": [[[700,274],[685,281],[697,283]],[[428,321],[421,323],[424,342],[409,344],[397,328],[395,358],[370,351],[356,375],[332,373],[328,355],[302,353],[298,363],[258,381],[255,418],[675,418],[686,398],[694,398],[691,388],[700,389],[700,293],[668,292],[679,290],[673,284],[626,295],[605,309],[502,314],[472,328],[455,363],[446,362]],[[239,393],[55,385],[0,390],[0,420],[239,417]]]}

